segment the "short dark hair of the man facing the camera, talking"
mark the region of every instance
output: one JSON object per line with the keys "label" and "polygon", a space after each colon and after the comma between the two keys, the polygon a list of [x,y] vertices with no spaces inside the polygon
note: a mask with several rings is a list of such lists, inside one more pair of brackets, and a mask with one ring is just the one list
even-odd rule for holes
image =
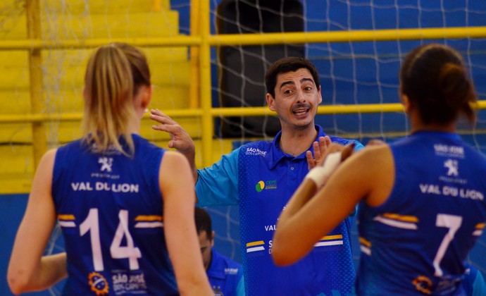
{"label": "short dark hair of the man facing the camera, talking", "polygon": [[275,98],[275,85],[277,84],[277,75],[280,73],[287,73],[290,71],[297,71],[301,68],[306,68],[311,72],[312,78],[316,87],[319,89],[320,82],[319,82],[319,73],[317,72],[316,66],[311,63],[306,58],[298,58],[298,57],[288,57],[288,58],[280,58],[280,60],[275,61],[270,68],[265,73],[265,87],[267,92]]}

